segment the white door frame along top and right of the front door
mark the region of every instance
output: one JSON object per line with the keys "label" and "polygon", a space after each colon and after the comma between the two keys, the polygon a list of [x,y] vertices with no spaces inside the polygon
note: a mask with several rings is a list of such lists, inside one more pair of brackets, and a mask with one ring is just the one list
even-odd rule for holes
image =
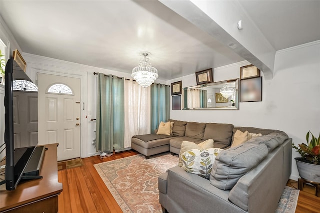
{"label": "white door frame along top and right of the front door", "polygon": [[[27,71],[29,77],[32,80],[35,80],[35,84],[37,85],[37,73],[44,73],[49,75],[58,75],[64,77],[72,77],[80,79],[80,99],[81,99],[81,128],[80,128],[80,157],[87,157],[87,72],[84,71],[76,71],[68,68],[60,68],[60,67],[49,67],[50,69],[43,69],[42,64],[32,64],[31,67],[27,67]],[[48,66],[46,66],[48,67]]]}

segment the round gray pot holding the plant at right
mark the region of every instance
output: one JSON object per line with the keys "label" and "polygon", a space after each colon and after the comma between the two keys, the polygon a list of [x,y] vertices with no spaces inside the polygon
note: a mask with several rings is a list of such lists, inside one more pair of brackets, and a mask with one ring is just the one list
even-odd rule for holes
{"label": "round gray pot holding the plant at right", "polygon": [[320,183],[320,165],[306,163],[302,158],[294,158],[294,160],[301,178]]}

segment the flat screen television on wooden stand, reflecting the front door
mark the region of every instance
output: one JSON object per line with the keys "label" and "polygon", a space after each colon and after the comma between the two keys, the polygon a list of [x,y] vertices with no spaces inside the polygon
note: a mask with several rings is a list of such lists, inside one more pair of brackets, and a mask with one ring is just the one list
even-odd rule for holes
{"label": "flat screen television on wooden stand, reflecting the front door", "polygon": [[41,178],[44,147],[37,147],[36,85],[12,58],[6,63],[4,79],[5,157],[1,162],[5,161],[5,168],[1,184],[14,190],[23,179]]}

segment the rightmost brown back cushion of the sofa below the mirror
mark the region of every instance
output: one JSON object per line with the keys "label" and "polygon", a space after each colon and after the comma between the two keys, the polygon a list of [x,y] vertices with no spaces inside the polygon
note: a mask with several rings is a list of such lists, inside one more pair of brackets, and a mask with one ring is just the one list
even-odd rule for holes
{"label": "rightmost brown back cushion of the sofa below the mirror", "polygon": [[203,139],[212,138],[215,143],[229,145],[232,136],[232,124],[207,123],[204,129]]}

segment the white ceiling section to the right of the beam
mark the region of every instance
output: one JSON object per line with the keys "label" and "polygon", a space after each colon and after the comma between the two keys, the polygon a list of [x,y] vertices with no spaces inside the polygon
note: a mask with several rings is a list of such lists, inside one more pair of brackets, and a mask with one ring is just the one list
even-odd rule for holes
{"label": "white ceiling section to the right of the beam", "polygon": [[320,40],[320,0],[239,2],[275,50]]}

